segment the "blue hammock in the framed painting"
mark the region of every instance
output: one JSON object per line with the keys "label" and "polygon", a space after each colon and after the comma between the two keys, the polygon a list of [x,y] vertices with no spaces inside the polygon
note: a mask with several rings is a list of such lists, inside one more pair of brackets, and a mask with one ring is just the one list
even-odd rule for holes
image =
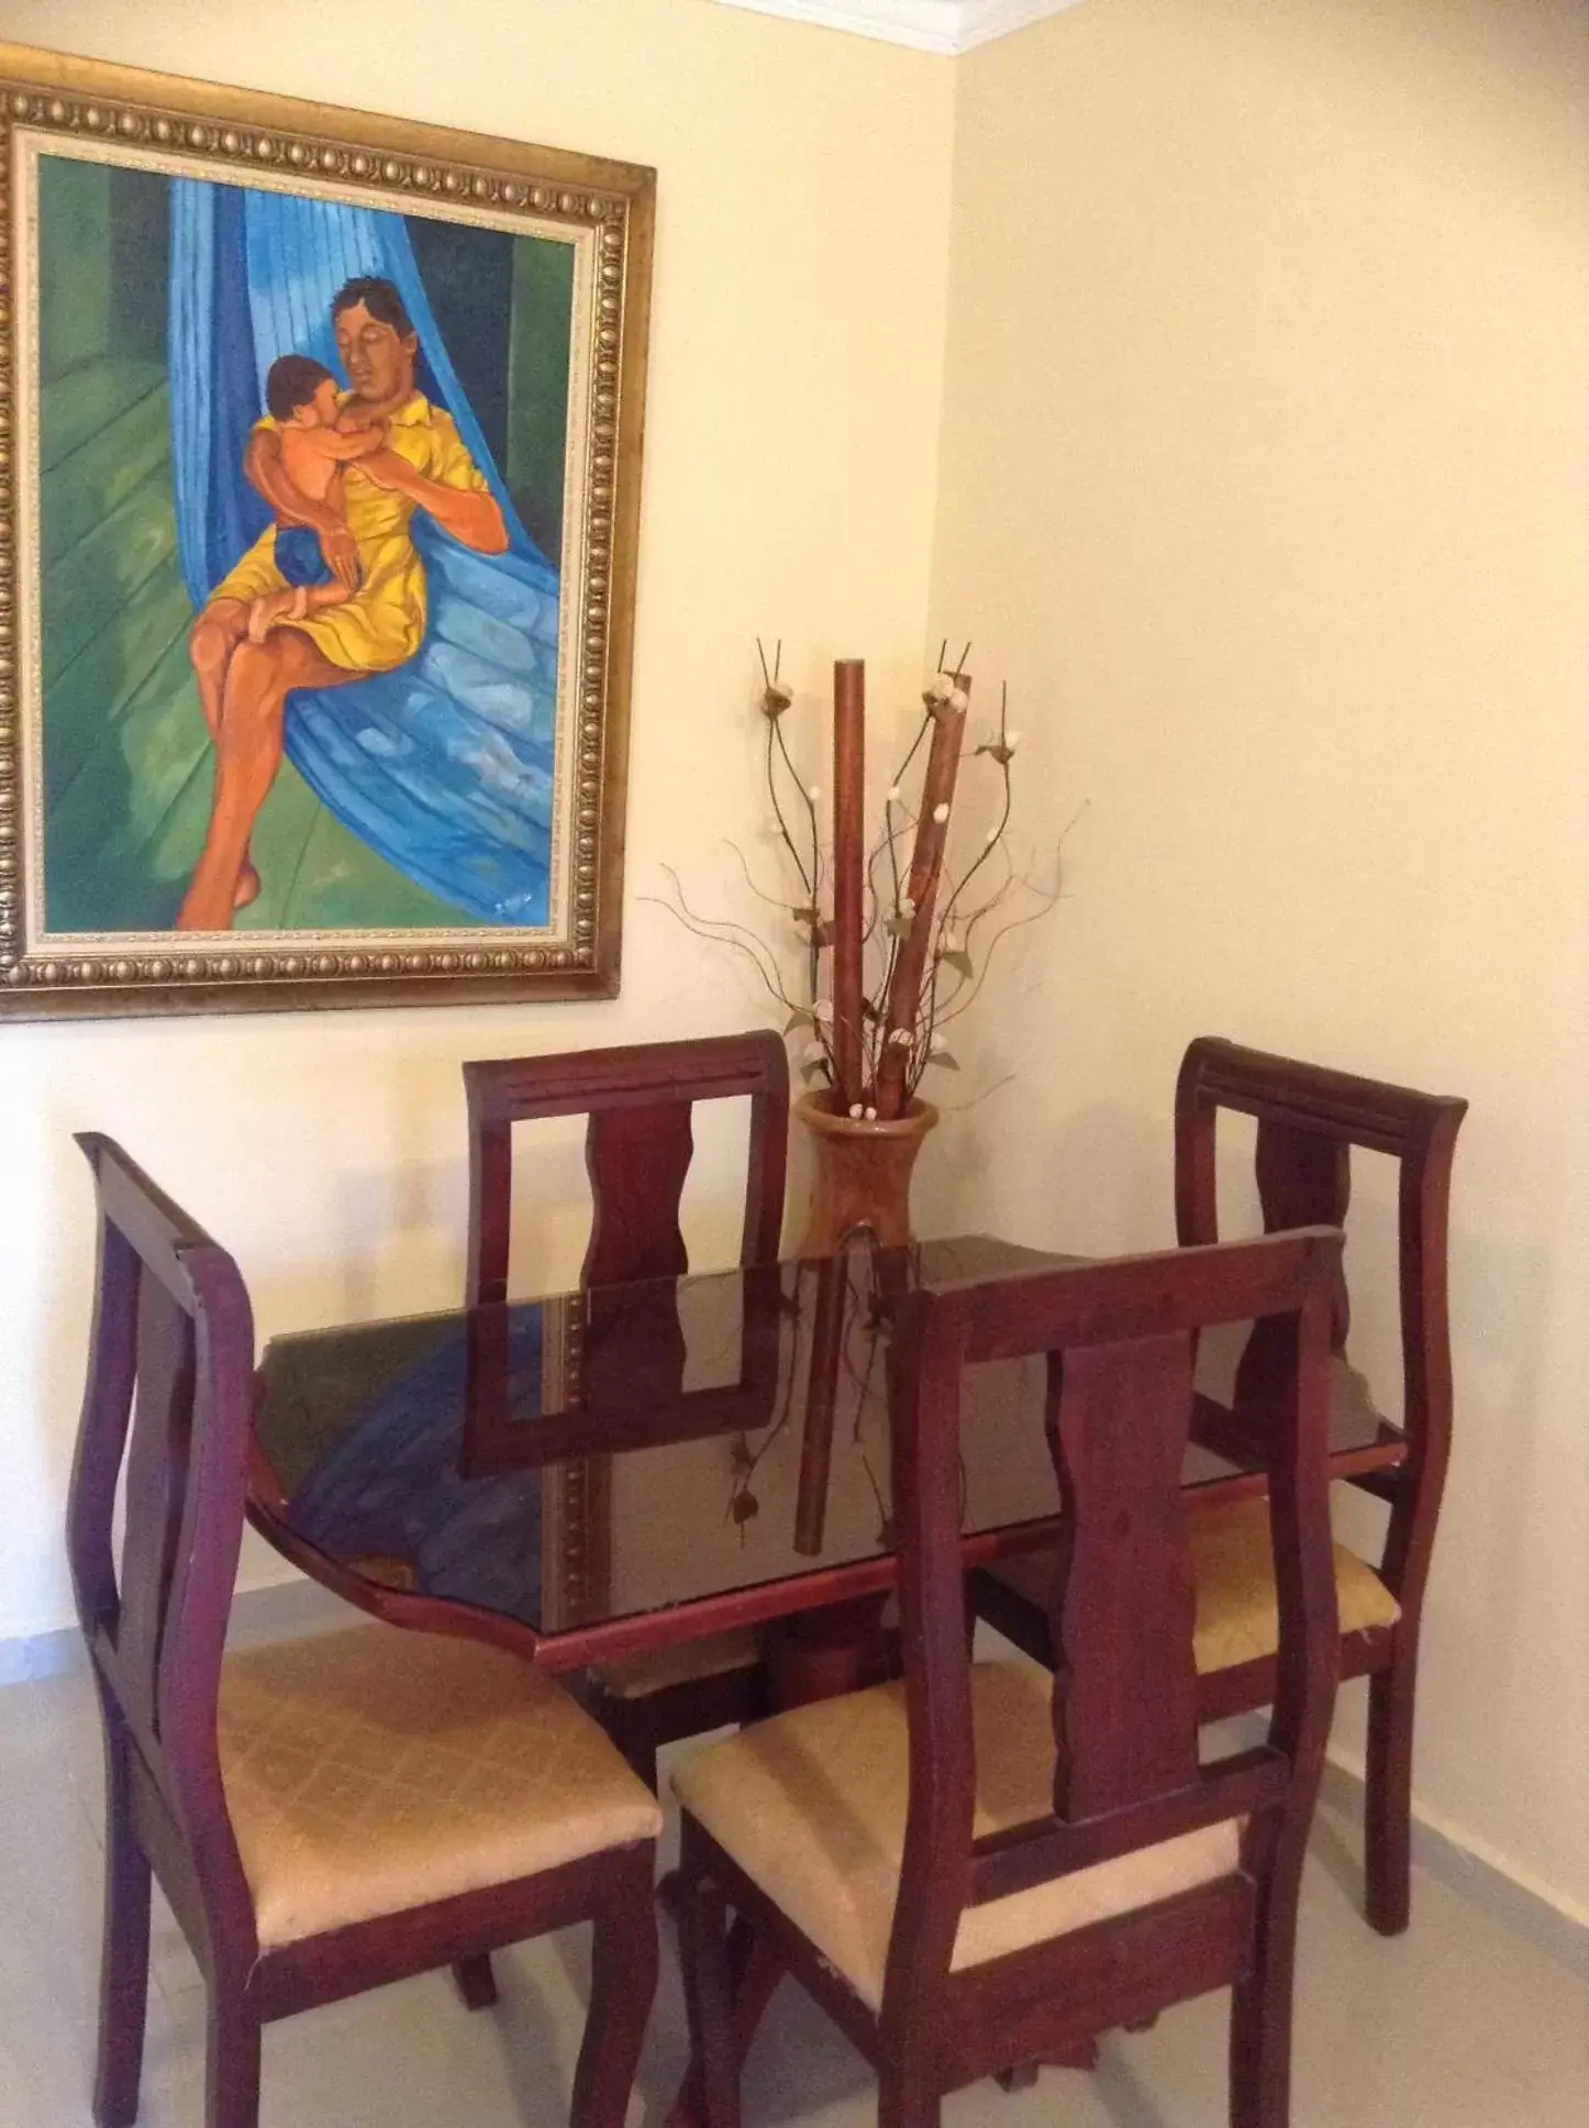
{"label": "blue hammock in the framed painting", "polygon": [[270,521],[242,477],[277,355],[340,375],[332,296],[379,275],[419,334],[417,387],[445,406],[508,523],[472,553],[423,511],[419,653],[287,698],[285,747],[317,798],[408,879],[485,924],[549,917],[557,572],[508,500],[457,383],[400,215],[172,179],[170,406],[177,543],[198,611]]}

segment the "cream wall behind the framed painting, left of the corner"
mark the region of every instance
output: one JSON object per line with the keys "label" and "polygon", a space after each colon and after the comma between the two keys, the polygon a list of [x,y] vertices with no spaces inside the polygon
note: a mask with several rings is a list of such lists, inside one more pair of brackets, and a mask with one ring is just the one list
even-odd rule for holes
{"label": "cream wall behind the framed painting, left of the corner", "polygon": [[[917,685],[944,332],[953,70],[704,0],[0,0],[0,36],[608,153],[659,170],[615,1004],[0,1028],[0,1639],[70,1615],[60,1502],[91,1264],[68,1143],[111,1130],[240,1258],[262,1332],[445,1307],[468,1055],[751,1026],[642,896],[730,904],[753,834],[753,641]],[[698,1219],[727,1141],[702,1147]],[[532,1264],[576,1266],[579,1162]],[[708,1249],[708,1253],[721,1253]],[[279,1562],[251,1553],[251,1577]]]}

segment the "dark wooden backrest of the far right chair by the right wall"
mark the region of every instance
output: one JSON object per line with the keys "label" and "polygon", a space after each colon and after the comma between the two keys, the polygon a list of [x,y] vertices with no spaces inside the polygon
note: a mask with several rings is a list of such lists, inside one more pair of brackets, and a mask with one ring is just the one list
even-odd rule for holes
{"label": "dark wooden backrest of the far right chair by the right wall", "polygon": [[[1257,1117],[1257,1194],[1268,1234],[1344,1226],[1353,1145],[1400,1162],[1404,1426],[1415,1464],[1442,1470],[1451,1439],[1451,1158],[1468,1102],[1198,1036],[1181,1062],[1174,1107],[1174,1207],[1183,1247],[1219,1241],[1221,1109]],[[1336,1351],[1344,1351],[1349,1326],[1342,1270],[1332,1300]],[[1255,1330],[1236,1375],[1236,1402],[1261,1407],[1272,1368],[1274,1332]]]}

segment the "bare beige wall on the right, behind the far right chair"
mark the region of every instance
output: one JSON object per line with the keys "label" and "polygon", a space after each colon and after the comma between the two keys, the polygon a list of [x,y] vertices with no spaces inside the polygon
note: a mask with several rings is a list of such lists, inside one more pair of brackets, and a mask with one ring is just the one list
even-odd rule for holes
{"label": "bare beige wall on the right, behind the far right chair", "polygon": [[[938,1204],[1170,1238],[1198,1032],[1470,1098],[1417,1785],[1578,1911],[1587,30],[1087,0],[964,60],[936,551],[1027,792],[1087,802],[1042,958],[976,1019],[1015,1109],[964,1119]],[[1381,1360],[1387,1268],[1359,1245]]]}

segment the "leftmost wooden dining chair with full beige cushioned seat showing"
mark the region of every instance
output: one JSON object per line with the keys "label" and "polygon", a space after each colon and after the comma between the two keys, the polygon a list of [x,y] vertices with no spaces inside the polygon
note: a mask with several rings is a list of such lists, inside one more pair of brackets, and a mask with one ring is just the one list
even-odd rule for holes
{"label": "leftmost wooden dining chair with full beige cushioned seat showing", "polygon": [[572,2117],[621,2128],[657,1975],[655,1798],[500,1649],[357,1626],[223,1653],[249,1296],[111,1138],[77,1143],[100,1213],[68,1504],[104,1717],[96,2122],[138,2113],[153,1873],[208,1983],[208,2128],[255,2128],[268,2019],[432,1966],[489,1981],[491,1949],[574,1922],[596,1945]]}

